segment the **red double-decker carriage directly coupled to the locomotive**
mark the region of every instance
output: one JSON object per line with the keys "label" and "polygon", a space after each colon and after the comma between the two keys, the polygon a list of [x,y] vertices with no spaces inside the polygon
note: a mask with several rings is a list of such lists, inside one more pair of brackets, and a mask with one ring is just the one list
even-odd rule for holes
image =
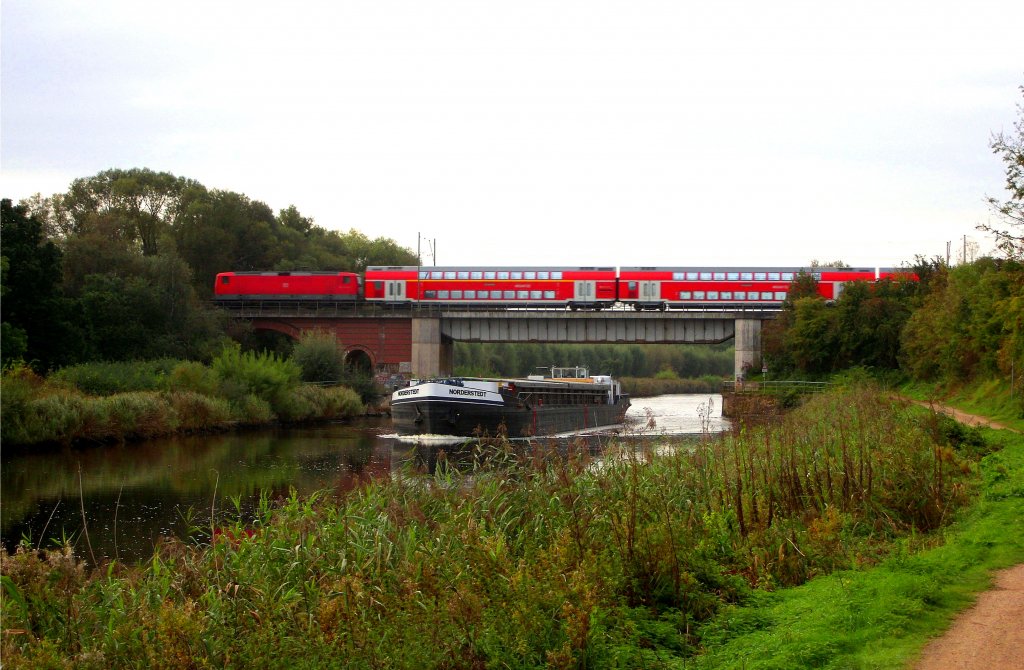
{"label": "red double-decker carriage directly coupled to the locomotive", "polygon": [[614,267],[374,265],[365,280],[367,301],[388,304],[600,309],[616,297]]}

